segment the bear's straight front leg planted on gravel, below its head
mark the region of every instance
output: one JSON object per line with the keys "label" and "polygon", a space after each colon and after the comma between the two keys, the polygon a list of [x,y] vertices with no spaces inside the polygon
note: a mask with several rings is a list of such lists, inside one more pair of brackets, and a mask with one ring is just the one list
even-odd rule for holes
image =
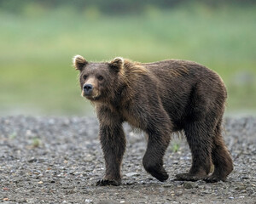
{"label": "bear's straight front leg planted on gravel, below its head", "polygon": [[121,184],[121,163],[125,153],[125,133],[121,122],[100,124],[100,139],[106,165],[105,177],[96,185]]}

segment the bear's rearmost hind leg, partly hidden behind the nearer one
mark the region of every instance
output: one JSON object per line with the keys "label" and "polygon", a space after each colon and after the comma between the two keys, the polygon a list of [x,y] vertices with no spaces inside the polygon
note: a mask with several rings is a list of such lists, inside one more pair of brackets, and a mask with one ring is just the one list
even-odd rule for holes
{"label": "bear's rearmost hind leg, partly hidden behind the nearer one", "polygon": [[221,135],[221,120],[218,122],[213,138],[212,162],[214,164],[214,172],[205,180],[207,182],[225,181],[233,170],[233,161]]}

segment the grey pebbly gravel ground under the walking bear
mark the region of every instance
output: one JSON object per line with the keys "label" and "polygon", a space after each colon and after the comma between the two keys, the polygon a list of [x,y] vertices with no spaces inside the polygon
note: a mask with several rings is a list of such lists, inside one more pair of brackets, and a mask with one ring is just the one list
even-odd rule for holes
{"label": "grey pebbly gravel ground under the walking bear", "polygon": [[0,117],[0,202],[256,203],[256,117],[225,119],[235,169],[216,184],[173,180],[190,167],[185,139],[173,139],[166,152],[170,178],[152,178],[142,165],[146,141],[125,124],[123,183],[98,187],[104,163],[97,131],[94,117]]}

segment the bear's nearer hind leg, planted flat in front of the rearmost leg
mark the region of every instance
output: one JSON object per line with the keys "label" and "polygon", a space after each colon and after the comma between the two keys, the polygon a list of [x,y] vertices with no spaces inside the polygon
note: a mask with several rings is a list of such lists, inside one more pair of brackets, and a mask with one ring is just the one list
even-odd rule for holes
{"label": "bear's nearer hind leg, planted flat in front of the rearmost leg", "polygon": [[179,173],[177,180],[196,181],[206,178],[210,173],[212,159],[212,129],[206,122],[190,122],[184,132],[192,153],[192,167],[189,173]]}

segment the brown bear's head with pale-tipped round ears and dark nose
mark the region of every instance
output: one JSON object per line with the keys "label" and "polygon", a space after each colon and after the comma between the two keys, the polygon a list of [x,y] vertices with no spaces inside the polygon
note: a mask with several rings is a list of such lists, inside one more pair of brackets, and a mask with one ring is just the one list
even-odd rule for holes
{"label": "brown bear's head with pale-tipped round ears and dark nose", "polygon": [[122,82],[124,59],[118,57],[111,62],[88,62],[76,55],[73,65],[80,71],[79,80],[82,96],[91,101],[104,101],[117,92]]}

